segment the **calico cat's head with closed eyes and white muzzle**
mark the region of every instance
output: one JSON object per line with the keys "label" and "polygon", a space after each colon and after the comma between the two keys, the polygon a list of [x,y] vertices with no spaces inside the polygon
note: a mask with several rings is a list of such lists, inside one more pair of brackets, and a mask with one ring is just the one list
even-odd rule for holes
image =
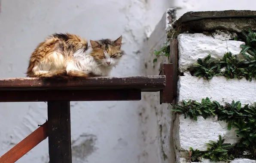
{"label": "calico cat's head with closed eyes and white muzzle", "polygon": [[92,41],[91,43],[91,56],[94,57],[103,66],[116,66],[125,52],[121,49],[122,36],[116,40],[100,39]]}

